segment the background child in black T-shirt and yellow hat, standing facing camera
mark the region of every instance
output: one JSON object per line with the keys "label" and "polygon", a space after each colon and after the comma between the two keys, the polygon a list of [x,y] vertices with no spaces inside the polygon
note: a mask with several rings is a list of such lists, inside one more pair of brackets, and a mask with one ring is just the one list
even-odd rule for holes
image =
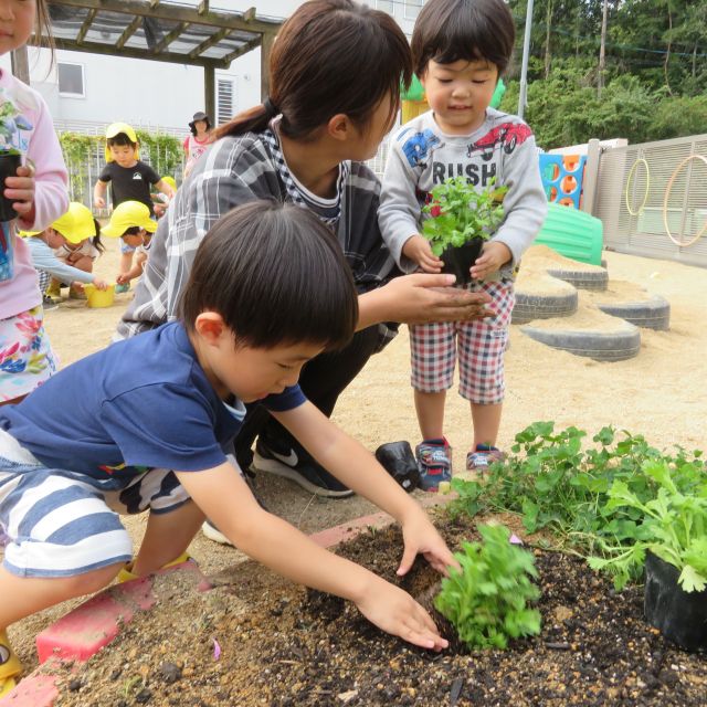
{"label": "background child in black T-shirt and yellow hat, standing facing camera", "polygon": [[[152,184],[168,199],[175,196],[171,186],[140,160],[137,134],[127,123],[113,123],[106,128],[105,157],[106,165],[93,189],[93,202],[99,209],[106,207],[108,182],[114,209],[125,201],[139,201],[148,208],[150,217],[155,215],[150,197]],[[120,274],[130,272],[134,252],[129,245],[120,245]]]}

